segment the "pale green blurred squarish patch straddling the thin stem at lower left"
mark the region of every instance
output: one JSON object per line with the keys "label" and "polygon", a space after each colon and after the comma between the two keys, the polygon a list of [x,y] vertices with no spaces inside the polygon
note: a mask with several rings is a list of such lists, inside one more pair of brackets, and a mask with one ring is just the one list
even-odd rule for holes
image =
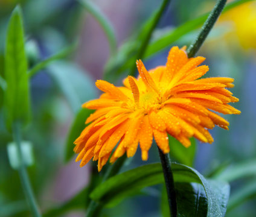
{"label": "pale green blurred squarish patch straddling the thin stem at lower left", "polygon": [[[34,163],[33,147],[31,142],[21,142],[21,152],[24,159],[24,163],[27,166],[31,166]],[[15,142],[8,143],[7,145],[8,159],[11,168],[18,169],[21,166],[21,160],[19,159],[18,149]]]}

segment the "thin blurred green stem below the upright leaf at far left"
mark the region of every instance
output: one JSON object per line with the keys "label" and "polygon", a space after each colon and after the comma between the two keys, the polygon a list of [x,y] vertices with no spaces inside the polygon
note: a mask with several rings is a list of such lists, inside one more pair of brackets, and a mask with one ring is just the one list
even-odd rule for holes
{"label": "thin blurred green stem below the upright leaf at far left", "polygon": [[25,161],[24,157],[22,156],[22,149],[21,149],[21,128],[18,123],[13,125],[13,139],[14,142],[16,143],[17,149],[18,149],[18,156],[19,156],[19,177],[21,178],[21,184],[22,188],[25,193],[25,197],[27,198],[28,204],[31,209],[31,213],[35,217],[39,217],[40,212],[36,203],[36,199],[34,197],[34,193],[30,184],[30,180],[28,178],[26,166],[25,166]]}

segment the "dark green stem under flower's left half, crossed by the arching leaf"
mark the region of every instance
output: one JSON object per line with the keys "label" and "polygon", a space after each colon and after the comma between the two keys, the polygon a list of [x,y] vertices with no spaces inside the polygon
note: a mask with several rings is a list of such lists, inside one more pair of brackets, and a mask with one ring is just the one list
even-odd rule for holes
{"label": "dark green stem under flower's left half, crossed by the arching leaf", "polygon": [[[120,157],[120,159],[118,159],[113,166],[110,166],[103,177],[103,181],[106,181],[108,178],[116,175],[120,171],[121,167],[124,165],[124,162],[126,161],[126,159],[127,159],[126,156]],[[101,206],[101,204],[96,203],[95,201],[91,201],[89,203],[88,212],[86,216],[87,217],[99,216],[102,208],[103,207]]]}

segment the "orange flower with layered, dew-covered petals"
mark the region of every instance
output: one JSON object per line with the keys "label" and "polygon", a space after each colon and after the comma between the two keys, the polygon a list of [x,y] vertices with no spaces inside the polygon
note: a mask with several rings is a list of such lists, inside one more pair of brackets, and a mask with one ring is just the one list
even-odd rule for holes
{"label": "orange flower with layered, dew-covered petals", "polygon": [[86,121],[91,124],[74,142],[74,151],[79,153],[76,161],[82,160],[80,166],[93,157],[98,160],[100,171],[116,146],[110,163],[124,153],[132,157],[138,143],[142,160],[147,160],[153,137],[162,152],[168,153],[167,133],[188,147],[190,137],[212,143],[213,137],[207,129],[214,125],[228,130],[228,121],[211,110],[240,114],[228,105],[238,99],[225,88],[233,87],[234,79],[197,80],[208,71],[208,66],[198,66],[204,60],[204,57],[188,58],[183,49],[175,46],[166,66],[148,72],[141,60],[136,61],[139,77],[127,77],[124,87],[98,80],[96,86],[104,93],[99,99],[83,104],[84,108],[96,111]]}

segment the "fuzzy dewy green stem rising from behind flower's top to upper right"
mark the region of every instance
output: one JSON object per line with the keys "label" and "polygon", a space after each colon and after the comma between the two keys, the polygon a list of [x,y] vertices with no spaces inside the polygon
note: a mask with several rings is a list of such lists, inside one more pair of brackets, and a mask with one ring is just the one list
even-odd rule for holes
{"label": "fuzzy dewy green stem rising from behind flower's top to upper right", "polygon": [[226,4],[226,0],[217,1],[210,15],[208,16],[205,23],[203,24],[202,30],[200,31],[200,33],[198,34],[194,42],[191,43],[190,47],[187,49],[187,54],[189,58],[194,57],[194,55],[199,50],[200,46],[202,46],[206,37],[208,36],[211,29],[213,28],[213,25],[215,24],[216,20],[220,16],[220,13],[222,13],[222,10],[225,4]]}

